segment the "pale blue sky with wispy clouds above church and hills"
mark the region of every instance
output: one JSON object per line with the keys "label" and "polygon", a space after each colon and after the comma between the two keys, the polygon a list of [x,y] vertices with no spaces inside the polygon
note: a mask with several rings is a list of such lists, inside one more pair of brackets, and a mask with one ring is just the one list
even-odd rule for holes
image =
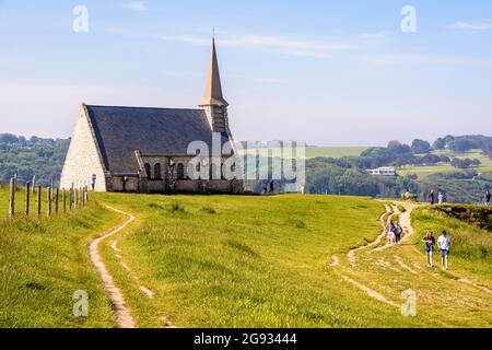
{"label": "pale blue sky with wispy clouds above church and hills", "polygon": [[0,132],[70,137],[82,103],[195,108],[213,28],[236,140],[492,135],[490,0],[0,0]]}

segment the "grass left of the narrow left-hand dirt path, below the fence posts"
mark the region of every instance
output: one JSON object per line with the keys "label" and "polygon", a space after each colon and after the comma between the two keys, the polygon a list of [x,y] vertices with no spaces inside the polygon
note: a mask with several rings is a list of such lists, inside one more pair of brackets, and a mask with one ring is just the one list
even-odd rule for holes
{"label": "grass left of the narrow left-hand dirt path, below the fence posts", "polygon": [[[23,196],[20,190],[19,199]],[[94,202],[49,221],[22,215],[10,221],[7,203],[8,190],[0,189],[0,327],[113,327],[112,306],[87,244],[120,218]],[[23,208],[21,200],[17,208]],[[87,318],[72,313],[79,290],[89,294]]]}

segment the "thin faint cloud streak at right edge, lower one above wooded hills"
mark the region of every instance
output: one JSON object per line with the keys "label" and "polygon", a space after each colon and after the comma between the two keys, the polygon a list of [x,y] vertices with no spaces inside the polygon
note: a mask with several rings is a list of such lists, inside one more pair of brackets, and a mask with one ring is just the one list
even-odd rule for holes
{"label": "thin faint cloud streak at right edge, lower one above wooded hills", "polygon": [[453,66],[492,66],[492,58],[476,57],[446,57],[446,56],[419,56],[396,55],[366,57],[368,63],[379,66],[419,66],[419,65],[453,65]]}

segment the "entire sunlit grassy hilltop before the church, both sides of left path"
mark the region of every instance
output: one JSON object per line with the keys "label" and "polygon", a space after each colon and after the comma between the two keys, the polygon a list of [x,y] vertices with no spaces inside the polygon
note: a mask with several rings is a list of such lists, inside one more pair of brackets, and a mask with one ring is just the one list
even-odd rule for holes
{"label": "entire sunlit grassy hilltop before the church, both sides of left path", "polygon": [[[1,190],[0,217],[7,211],[5,197]],[[377,219],[385,209],[376,200],[117,194],[91,198],[82,211],[50,221],[0,220],[0,327],[115,325],[87,257],[94,236],[125,221],[103,205],[137,218],[117,237],[104,241],[99,250],[140,327],[162,327],[164,320],[178,327],[490,326],[491,296],[460,285],[452,275],[433,280],[429,276],[434,272],[424,271],[423,266],[419,275],[397,269],[396,255],[409,266],[423,265],[423,255],[413,245],[401,252],[361,253],[361,264],[349,264],[350,249],[373,242],[380,233]],[[422,209],[414,220],[420,235],[454,219]],[[465,228],[457,226],[456,232]],[[469,241],[464,234],[462,249],[468,244],[476,252],[480,242],[490,252],[491,243],[479,240],[483,232],[470,230],[464,232],[477,236]],[[335,256],[340,260],[336,267]],[[375,264],[379,260],[394,266]],[[459,273],[490,285],[488,260],[473,255],[466,264],[456,260],[453,269],[455,264]],[[393,305],[374,300],[348,283],[347,277],[385,294]],[[152,291],[152,298],[142,292],[142,285]],[[424,295],[418,317],[403,317],[395,307],[409,287]],[[89,318],[71,314],[75,290],[89,291]],[[442,307],[441,296],[433,294],[440,290],[464,303],[461,307]]]}

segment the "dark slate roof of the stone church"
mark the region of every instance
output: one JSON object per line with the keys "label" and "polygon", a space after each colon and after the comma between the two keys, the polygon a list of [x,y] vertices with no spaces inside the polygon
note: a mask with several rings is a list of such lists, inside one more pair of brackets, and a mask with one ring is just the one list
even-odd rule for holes
{"label": "dark slate roof of the stone church", "polygon": [[[203,141],[212,149],[212,130],[202,109],[86,108],[106,168],[112,173],[136,174],[136,150],[143,154],[186,155],[192,141]],[[223,135],[222,142],[226,141]]]}

